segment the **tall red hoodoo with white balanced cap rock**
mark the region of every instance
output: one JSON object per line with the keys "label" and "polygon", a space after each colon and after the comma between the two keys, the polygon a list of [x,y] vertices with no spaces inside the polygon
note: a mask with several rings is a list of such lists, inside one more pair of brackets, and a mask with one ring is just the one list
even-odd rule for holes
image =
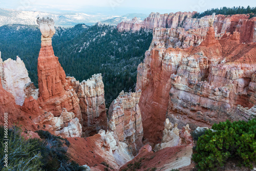
{"label": "tall red hoodoo with white balanced cap rock", "polygon": [[42,33],[37,63],[39,88],[37,101],[42,110],[52,112],[55,116],[60,116],[61,110],[65,108],[68,112],[73,112],[81,121],[79,99],[73,89],[69,90],[65,71],[53,52],[51,37],[55,33],[54,22],[43,18],[37,19],[37,23]]}

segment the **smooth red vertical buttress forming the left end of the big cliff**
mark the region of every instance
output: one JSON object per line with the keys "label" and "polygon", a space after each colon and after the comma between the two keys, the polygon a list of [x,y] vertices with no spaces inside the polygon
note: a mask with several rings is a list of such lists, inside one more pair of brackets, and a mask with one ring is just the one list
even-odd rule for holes
{"label": "smooth red vertical buttress forming the left end of the big cliff", "polygon": [[170,90],[169,77],[175,71],[180,55],[175,51],[164,53],[163,49],[153,48],[145,53],[144,63],[138,66],[136,90],[142,91],[139,106],[144,137],[154,142],[162,139]]}

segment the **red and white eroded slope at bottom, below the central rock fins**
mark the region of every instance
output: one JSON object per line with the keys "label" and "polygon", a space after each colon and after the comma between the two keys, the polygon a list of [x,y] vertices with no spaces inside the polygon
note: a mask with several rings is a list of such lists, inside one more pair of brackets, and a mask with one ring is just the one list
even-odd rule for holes
{"label": "red and white eroded slope at bottom, below the central rock fins", "polygon": [[80,165],[87,164],[91,170],[104,170],[106,164],[111,170],[118,170],[121,165],[134,158],[127,145],[116,141],[114,133],[110,131],[101,130],[91,137],[68,140],[71,143],[68,151],[72,154],[72,159]]}

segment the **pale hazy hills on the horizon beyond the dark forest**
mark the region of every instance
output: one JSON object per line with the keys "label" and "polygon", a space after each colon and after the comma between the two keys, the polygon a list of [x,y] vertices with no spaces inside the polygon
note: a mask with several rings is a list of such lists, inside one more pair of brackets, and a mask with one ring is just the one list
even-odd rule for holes
{"label": "pale hazy hills on the horizon beyond the dark forest", "polygon": [[0,26],[8,24],[37,25],[36,18],[48,16],[54,19],[55,26],[73,27],[76,24],[94,25],[97,22],[103,24],[117,25],[122,20],[131,20],[133,17],[146,18],[146,14],[126,14],[116,16],[111,14],[86,14],[86,13],[49,13],[40,11],[18,11],[0,8]]}

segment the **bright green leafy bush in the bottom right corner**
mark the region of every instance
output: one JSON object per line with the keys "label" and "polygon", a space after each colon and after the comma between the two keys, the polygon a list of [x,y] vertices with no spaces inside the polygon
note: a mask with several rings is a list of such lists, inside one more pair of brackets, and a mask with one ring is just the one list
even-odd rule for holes
{"label": "bright green leafy bush in the bottom right corner", "polygon": [[229,158],[236,158],[241,164],[252,167],[256,162],[256,119],[230,121],[214,124],[211,130],[199,137],[196,154],[198,170],[217,170],[224,166]]}

